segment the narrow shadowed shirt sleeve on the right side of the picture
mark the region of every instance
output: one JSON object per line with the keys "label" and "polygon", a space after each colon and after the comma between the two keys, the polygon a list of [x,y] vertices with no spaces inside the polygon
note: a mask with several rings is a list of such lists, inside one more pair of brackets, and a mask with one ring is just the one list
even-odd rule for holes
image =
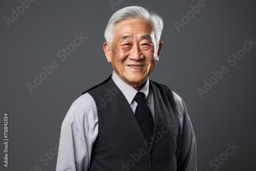
{"label": "narrow shadowed shirt sleeve on the right side of the picture", "polygon": [[193,126],[189,119],[184,101],[176,93],[174,93],[174,98],[181,122],[180,133],[177,139],[177,170],[196,171],[196,137]]}

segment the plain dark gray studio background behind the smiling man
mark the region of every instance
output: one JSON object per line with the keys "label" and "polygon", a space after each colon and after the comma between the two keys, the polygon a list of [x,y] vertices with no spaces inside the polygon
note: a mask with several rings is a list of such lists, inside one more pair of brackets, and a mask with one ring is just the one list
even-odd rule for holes
{"label": "plain dark gray studio background behind the smiling man", "polygon": [[[116,0],[114,0],[116,1]],[[112,9],[109,1],[36,1],[10,27],[20,2],[0,2],[1,139],[4,113],[9,113],[9,167],[4,167],[1,143],[1,170],[55,170],[57,156],[39,161],[54,151],[60,126],[72,102],[81,93],[112,73],[102,44],[111,15],[126,6],[143,6],[164,20],[163,49],[151,79],[166,84],[185,101],[197,138],[198,170],[214,170],[209,162],[220,157],[227,143],[239,146],[217,170],[256,170],[255,166],[255,67],[256,45],[232,67],[226,61],[245,44],[256,41],[255,1],[206,0],[206,6],[180,29],[181,14],[190,11],[193,1],[120,1]],[[65,61],[56,56],[67,48],[74,34],[87,37]],[[42,67],[56,60],[47,79],[29,92]],[[229,72],[200,98],[197,88],[225,65]],[[214,162],[216,163],[216,162]]]}

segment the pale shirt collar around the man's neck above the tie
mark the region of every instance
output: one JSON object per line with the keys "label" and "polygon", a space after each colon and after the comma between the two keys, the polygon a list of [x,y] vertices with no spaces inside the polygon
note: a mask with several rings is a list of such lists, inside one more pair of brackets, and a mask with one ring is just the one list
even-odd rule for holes
{"label": "pale shirt collar around the man's neck above the tie", "polygon": [[[132,103],[136,93],[138,92],[136,89],[134,89],[132,86],[128,85],[127,83],[123,82],[115,73],[115,71],[113,71],[112,74],[112,79],[115,82],[115,84],[117,85],[117,87],[121,90],[121,92],[123,93],[123,95],[125,96],[125,98],[127,99],[127,101],[129,102],[129,104]],[[146,95],[146,101],[148,103],[151,103],[151,96],[148,96],[149,93],[149,88],[150,88],[150,82],[147,78],[145,86],[140,90],[140,92],[144,93]]]}

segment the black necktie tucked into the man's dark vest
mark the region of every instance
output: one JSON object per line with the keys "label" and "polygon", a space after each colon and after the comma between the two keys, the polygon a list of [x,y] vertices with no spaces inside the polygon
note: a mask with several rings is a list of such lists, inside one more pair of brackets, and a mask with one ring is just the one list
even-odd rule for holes
{"label": "black necktie tucked into the man's dark vest", "polygon": [[138,119],[145,138],[150,138],[150,136],[153,135],[154,122],[150,109],[148,109],[148,106],[146,105],[146,96],[144,93],[138,92],[135,95],[134,100],[138,103],[135,110],[135,116]]}

